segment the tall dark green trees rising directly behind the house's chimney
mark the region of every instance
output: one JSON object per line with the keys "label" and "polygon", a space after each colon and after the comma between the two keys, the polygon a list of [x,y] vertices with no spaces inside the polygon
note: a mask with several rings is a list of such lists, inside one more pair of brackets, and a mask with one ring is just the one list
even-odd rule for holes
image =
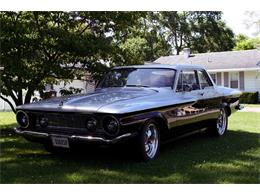
{"label": "tall dark green trees rising directly behind the house's chimney", "polygon": [[164,35],[178,55],[184,47],[195,53],[227,51],[234,47],[234,34],[221,20],[221,12],[159,12]]}

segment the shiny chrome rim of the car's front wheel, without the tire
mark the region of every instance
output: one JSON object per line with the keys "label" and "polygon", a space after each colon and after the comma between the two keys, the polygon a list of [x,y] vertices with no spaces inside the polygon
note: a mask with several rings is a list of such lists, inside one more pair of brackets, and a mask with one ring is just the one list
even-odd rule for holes
{"label": "shiny chrome rim of the car's front wheel, without the tire", "polygon": [[158,149],[158,132],[154,124],[149,124],[145,129],[145,152],[153,158]]}

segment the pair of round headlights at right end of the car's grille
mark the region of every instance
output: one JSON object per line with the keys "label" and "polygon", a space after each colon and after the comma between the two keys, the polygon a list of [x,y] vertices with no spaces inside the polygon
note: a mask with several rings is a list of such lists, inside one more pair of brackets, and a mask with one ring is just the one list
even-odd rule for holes
{"label": "pair of round headlights at right end of the car's grille", "polygon": [[[103,129],[108,135],[114,136],[119,132],[119,122],[113,116],[106,116],[103,119]],[[86,120],[86,129],[90,132],[94,132],[97,128],[97,120],[90,117]]]}

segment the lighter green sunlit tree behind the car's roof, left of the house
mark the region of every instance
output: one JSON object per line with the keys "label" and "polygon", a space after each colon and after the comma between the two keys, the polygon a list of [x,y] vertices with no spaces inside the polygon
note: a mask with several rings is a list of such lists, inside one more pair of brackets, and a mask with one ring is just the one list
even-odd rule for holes
{"label": "lighter green sunlit tree behind the car's roof, left of the house", "polygon": [[154,12],[142,12],[135,25],[132,25],[115,42],[120,45],[124,64],[143,64],[170,55],[171,45],[161,34]]}

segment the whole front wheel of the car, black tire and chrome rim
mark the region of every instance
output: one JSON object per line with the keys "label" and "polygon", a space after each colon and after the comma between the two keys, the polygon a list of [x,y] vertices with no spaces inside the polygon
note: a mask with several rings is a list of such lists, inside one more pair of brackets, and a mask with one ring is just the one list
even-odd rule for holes
{"label": "whole front wheel of the car, black tire and chrome rim", "polygon": [[138,150],[141,160],[150,161],[159,154],[160,132],[157,123],[149,120],[145,123],[138,137]]}

